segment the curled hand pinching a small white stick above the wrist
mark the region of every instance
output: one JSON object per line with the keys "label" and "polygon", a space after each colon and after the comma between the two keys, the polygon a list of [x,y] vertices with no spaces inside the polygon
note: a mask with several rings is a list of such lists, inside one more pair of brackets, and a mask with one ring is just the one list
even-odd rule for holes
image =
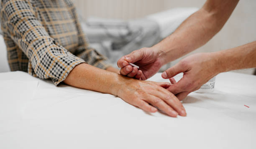
{"label": "curled hand pinching a small white stick above the wrist", "polygon": [[[129,63],[138,65],[139,70],[129,65]],[[157,49],[141,48],[120,58],[117,65],[121,68],[120,74],[131,78],[146,80],[157,73],[163,63],[161,58],[159,58]]]}

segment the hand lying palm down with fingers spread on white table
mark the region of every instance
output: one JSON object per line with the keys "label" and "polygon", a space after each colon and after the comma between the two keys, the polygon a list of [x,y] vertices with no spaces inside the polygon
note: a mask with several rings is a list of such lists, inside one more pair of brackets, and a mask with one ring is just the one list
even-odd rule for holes
{"label": "hand lying palm down with fingers spread on white table", "polygon": [[156,112],[158,107],[167,115],[177,117],[186,116],[186,111],[179,101],[168,88],[171,84],[167,82],[156,83],[152,81],[140,81],[133,78],[126,78],[123,85],[119,88],[117,95],[124,101],[137,106],[148,112]]}

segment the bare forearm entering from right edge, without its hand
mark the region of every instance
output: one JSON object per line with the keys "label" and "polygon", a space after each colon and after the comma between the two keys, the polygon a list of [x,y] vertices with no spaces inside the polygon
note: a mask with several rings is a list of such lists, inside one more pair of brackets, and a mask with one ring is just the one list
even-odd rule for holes
{"label": "bare forearm entering from right edge, without its hand", "polygon": [[218,58],[219,73],[256,67],[256,41],[213,53]]}

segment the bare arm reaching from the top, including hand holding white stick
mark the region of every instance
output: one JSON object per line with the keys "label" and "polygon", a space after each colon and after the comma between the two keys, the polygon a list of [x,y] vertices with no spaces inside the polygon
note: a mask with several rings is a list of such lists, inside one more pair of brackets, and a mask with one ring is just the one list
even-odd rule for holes
{"label": "bare arm reaching from the top, including hand holding white stick", "polygon": [[[161,66],[199,48],[220,31],[239,0],[207,0],[177,30],[151,48],[141,48],[118,61],[122,75],[146,80]],[[128,64],[135,63],[140,70]]]}

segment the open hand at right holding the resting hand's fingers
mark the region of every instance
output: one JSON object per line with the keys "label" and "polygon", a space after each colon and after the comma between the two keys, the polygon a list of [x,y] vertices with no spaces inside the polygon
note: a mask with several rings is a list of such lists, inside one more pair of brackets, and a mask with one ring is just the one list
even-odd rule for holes
{"label": "open hand at right holding the resting hand's fingers", "polygon": [[189,93],[196,91],[212,77],[220,73],[220,67],[217,56],[213,55],[213,53],[197,53],[184,58],[173,67],[164,71],[162,78],[172,78],[178,73],[183,73],[180,81],[167,88],[179,100],[182,100]]}

